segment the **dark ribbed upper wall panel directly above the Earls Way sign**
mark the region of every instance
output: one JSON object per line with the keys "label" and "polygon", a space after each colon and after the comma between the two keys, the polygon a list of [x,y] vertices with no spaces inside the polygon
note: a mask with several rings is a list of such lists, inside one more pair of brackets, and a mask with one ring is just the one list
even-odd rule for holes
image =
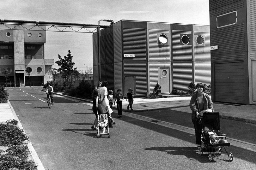
{"label": "dark ribbed upper wall panel directly above the Earls Way sign", "polygon": [[146,29],[123,28],[124,54],[135,54],[136,60],[146,60]]}

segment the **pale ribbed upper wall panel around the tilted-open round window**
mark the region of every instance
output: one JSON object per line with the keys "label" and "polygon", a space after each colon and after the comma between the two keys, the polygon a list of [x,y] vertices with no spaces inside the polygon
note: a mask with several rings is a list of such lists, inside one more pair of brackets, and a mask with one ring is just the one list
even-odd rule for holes
{"label": "pale ribbed upper wall panel around the tilted-open round window", "polygon": [[170,61],[170,45],[169,44],[159,44],[158,34],[166,33],[169,34],[169,30],[160,29],[149,29],[149,60],[157,61]]}

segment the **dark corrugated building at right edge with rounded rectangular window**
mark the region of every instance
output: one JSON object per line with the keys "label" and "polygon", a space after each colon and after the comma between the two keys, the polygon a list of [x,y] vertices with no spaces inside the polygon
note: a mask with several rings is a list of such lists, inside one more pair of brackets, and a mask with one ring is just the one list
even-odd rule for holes
{"label": "dark corrugated building at right edge with rounded rectangular window", "polygon": [[212,99],[256,104],[256,2],[210,0]]}

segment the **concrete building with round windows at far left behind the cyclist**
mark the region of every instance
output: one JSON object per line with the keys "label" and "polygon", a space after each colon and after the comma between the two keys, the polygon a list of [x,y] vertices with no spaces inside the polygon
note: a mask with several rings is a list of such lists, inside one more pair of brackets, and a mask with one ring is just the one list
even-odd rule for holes
{"label": "concrete building with round windows at far left behind the cyclist", "polygon": [[0,84],[6,83],[2,72],[6,68],[9,72],[8,86],[29,86],[29,76],[25,72],[27,67],[30,71],[31,86],[46,83],[49,80],[47,70],[54,65],[54,59],[45,59],[45,43],[45,31],[30,31],[21,25],[1,25]]}

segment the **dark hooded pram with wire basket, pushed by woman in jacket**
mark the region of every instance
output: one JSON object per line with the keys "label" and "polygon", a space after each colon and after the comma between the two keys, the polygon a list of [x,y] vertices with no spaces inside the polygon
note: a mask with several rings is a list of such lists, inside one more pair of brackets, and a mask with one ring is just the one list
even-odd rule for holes
{"label": "dark hooded pram with wire basket, pushed by woman in jacket", "polygon": [[[203,152],[208,152],[210,161],[213,161],[213,157],[228,157],[229,161],[233,161],[232,153],[228,153],[225,149],[225,146],[230,146],[230,143],[227,143],[226,135],[220,132],[220,114],[218,112],[204,113],[200,119],[202,121],[202,145],[199,148],[200,155],[203,155]],[[207,129],[206,127],[203,130],[205,126],[211,131],[205,132]],[[228,156],[220,156],[222,154],[222,148],[225,149]]]}

